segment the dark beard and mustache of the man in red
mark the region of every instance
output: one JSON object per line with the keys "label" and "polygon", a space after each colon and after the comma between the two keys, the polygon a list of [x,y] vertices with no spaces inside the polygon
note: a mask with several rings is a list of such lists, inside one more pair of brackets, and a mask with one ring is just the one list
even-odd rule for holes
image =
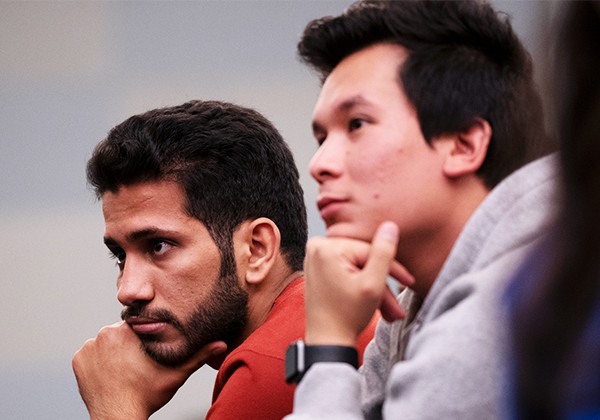
{"label": "dark beard and mustache of the man in red", "polygon": [[123,320],[131,316],[166,322],[179,331],[184,339],[182,345],[162,342],[155,335],[138,334],[148,356],[160,364],[178,366],[206,344],[224,341],[231,348],[239,341],[248,322],[248,293],[239,284],[233,258],[223,258],[219,278],[187,320],[177,319],[166,309],[147,310],[146,304],[129,306],[121,313]]}

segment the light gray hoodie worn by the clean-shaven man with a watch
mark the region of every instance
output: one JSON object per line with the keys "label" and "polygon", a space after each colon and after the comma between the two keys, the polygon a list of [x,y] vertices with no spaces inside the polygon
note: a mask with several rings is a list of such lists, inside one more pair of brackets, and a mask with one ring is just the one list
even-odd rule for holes
{"label": "light gray hoodie worn by the clean-shaven man with a watch", "polygon": [[556,167],[556,156],[547,156],[496,186],[425,300],[400,294],[407,319],[379,323],[359,372],[345,363],[313,365],[286,419],[502,418],[508,331],[500,299],[552,221]]}

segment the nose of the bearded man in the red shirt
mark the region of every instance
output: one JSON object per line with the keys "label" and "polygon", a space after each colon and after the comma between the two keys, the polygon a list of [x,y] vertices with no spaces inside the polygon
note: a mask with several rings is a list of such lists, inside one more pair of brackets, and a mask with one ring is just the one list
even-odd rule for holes
{"label": "nose of the bearded man in the red shirt", "polygon": [[154,298],[151,276],[143,262],[127,257],[123,271],[117,279],[117,299],[125,306],[149,302]]}

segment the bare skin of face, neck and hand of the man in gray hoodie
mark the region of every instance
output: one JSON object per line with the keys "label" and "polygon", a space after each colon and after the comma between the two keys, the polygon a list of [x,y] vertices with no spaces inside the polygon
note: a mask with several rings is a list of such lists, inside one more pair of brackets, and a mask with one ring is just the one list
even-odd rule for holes
{"label": "bare skin of face, neck and hand of the man in gray hoodie", "polygon": [[315,106],[319,149],[310,173],[327,237],[307,247],[308,344],[354,346],[378,307],[388,320],[401,318],[388,275],[424,298],[489,192],[475,174],[489,124],[476,120],[466,132],[428,144],[400,87],[407,54],[377,44],[346,57]]}

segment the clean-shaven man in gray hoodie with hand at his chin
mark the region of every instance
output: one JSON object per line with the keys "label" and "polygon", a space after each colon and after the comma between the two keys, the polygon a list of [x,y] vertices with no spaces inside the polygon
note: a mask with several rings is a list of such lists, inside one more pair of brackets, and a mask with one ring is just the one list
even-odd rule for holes
{"label": "clean-shaven man in gray hoodie with hand at his chin", "polygon": [[[323,81],[310,171],[327,235],[307,248],[289,419],[502,417],[498,300],[556,178],[528,53],[470,1],[358,2],[309,23],[299,52]],[[357,371],[377,308],[389,322]]]}

